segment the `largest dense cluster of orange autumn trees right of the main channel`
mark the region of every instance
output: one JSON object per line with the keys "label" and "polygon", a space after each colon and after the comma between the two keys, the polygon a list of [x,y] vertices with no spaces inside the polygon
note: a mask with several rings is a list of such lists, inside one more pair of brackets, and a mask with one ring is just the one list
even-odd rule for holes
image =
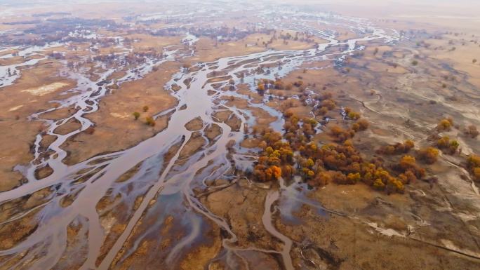
{"label": "largest dense cluster of orange autumn trees right of the main channel", "polygon": [[[312,141],[315,119],[299,119],[294,114],[285,114],[284,135],[266,130],[262,134],[260,158],[255,164],[253,177],[260,182],[290,179],[299,175],[314,187],[328,183],[356,184],[364,182],[369,186],[392,192],[403,192],[404,185],[425,176],[413,156],[404,156],[399,164],[391,166],[390,173],[380,158],[364,161],[349,138],[356,131],[353,128],[333,126],[330,130],[334,143],[319,145]],[[358,121],[356,122],[358,123]],[[368,122],[367,122],[368,123]],[[354,123],[355,124],[355,123]],[[353,126],[353,125],[352,125]],[[367,125],[359,125],[366,129]],[[402,153],[413,148],[413,142],[401,144]]]}

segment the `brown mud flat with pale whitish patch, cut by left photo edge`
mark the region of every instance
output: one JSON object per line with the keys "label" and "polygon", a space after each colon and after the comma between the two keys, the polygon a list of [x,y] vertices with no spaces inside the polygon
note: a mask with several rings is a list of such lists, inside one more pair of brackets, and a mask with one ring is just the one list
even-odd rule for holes
{"label": "brown mud flat with pale whitish patch, cut by left photo edge", "polygon": [[31,69],[22,71],[22,77],[13,86],[0,88],[1,107],[0,126],[8,132],[1,133],[1,140],[8,144],[1,144],[0,190],[6,191],[17,187],[22,181],[22,175],[13,171],[18,164],[25,164],[32,160],[30,147],[35,136],[44,126],[41,122],[32,122],[28,116],[51,106],[51,100],[63,99],[60,93],[72,88],[75,82],[59,77],[58,69],[62,65],[58,62],[39,62]]}

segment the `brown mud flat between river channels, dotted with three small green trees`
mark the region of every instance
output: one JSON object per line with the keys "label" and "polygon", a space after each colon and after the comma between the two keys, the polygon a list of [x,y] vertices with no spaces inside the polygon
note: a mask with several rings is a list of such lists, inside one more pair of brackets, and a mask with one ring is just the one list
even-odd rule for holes
{"label": "brown mud flat between river channels, dotted with three small green trees", "polygon": [[[124,83],[111,95],[102,98],[100,109],[88,116],[95,123],[93,133],[79,133],[71,137],[62,148],[71,153],[67,164],[76,164],[98,154],[120,151],[152,137],[168,125],[168,116],[156,119],[155,126],[145,123],[148,116],[155,116],[171,109],[177,103],[164,88],[180,65],[166,63],[138,81]],[[147,106],[147,112],[143,107]],[[133,112],[140,117],[134,120]],[[124,130],[124,131],[120,131]],[[122,136],[118,136],[122,133]]]}

